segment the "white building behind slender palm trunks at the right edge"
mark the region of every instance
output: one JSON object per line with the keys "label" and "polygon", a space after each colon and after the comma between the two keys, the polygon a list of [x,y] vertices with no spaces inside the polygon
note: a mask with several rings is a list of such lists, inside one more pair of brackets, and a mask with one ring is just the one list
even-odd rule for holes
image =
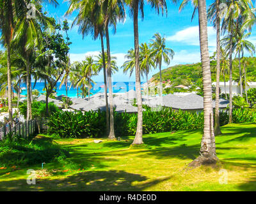
{"label": "white building behind slender palm trunks at the right edge", "polygon": [[[246,90],[256,88],[256,82],[247,82],[248,85],[246,85]],[[212,82],[212,85],[216,87],[216,82]],[[239,95],[241,93],[240,86],[237,82],[232,82],[232,94]],[[226,92],[229,93],[229,81],[226,82]],[[225,94],[225,84],[224,82],[220,82],[220,93]]]}

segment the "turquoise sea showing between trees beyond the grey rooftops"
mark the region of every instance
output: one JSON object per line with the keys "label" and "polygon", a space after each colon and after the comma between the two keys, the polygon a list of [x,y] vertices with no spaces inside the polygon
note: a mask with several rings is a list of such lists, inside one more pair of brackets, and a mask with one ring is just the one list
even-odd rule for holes
{"label": "turquoise sea showing between trees beyond the grey rooftops", "polygon": [[[104,93],[104,82],[95,82],[96,84],[92,84],[92,89],[90,90],[91,95],[97,94],[97,93]],[[141,82],[141,85],[144,84],[145,82]],[[31,83],[33,90],[38,90],[40,93],[44,93],[44,82],[36,82],[36,85],[34,82]],[[35,87],[34,87],[35,85]],[[127,92],[130,90],[135,91],[135,82],[113,82],[113,92],[114,93],[123,93]],[[21,94],[26,95],[27,90],[26,90],[26,83],[23,83],[20,85],[20,88],[22,89]],[[80,89],[79,89],[80,90]],[[60,96],[61,94],[66,95],[66,87],[65,85],[62,85],[60,88],[60,82],[57,84],[57,96]],[[77,97],[77,89],[76,87],[70,87],[70,83],[68,83],[68,97]]]}

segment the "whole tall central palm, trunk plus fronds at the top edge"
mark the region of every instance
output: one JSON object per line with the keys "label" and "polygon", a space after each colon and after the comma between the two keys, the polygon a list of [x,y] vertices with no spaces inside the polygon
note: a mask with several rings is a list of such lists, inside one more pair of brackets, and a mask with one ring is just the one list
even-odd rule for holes
{"label": "whole tall central palm, trunk plus fronds at the top edge", "polygon": [[[139,50],[139,33],[138,33],[138,13],[140,10],[141,17],[144,17],[143,0],[126,0],[125,3],[129,6],[133,17],[133,31],[134,31],[134,54],[135,54],[135,77],[136,77],[136,98],[138,103],[138,120],[137,130],[132,144],[142,144],[143,139],[143,115],[142,115],[142,99],[141,99],[141,81],[140,81],[140,50]],[[161,8],[162,13],[166,9],[166,1],[164,0],[148,0],[152,8],[156,8],[159,13]],[[167,12],[167,10],[166,10]]]}

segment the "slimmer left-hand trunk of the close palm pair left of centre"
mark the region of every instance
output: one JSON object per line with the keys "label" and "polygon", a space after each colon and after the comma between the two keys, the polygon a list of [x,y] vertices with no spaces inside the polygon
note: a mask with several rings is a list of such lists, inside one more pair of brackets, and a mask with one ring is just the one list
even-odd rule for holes
{"label": "slimmer left-hand trunk of the close palm pair left of centre", "polygon": [[109,134],[109,108],[108,108],[108,85],[107,85],[107,77],[106,77],[106,61],[105,61],[105,51],[104,51],[104,42],[103,42],[103,34],[100,32],[100,42],[101,42],[101,52],[102,52],[102,63],[103,63],[103,73],[104,73],[104,96],[106,102],[106,126],[107,126],[107,134]]}

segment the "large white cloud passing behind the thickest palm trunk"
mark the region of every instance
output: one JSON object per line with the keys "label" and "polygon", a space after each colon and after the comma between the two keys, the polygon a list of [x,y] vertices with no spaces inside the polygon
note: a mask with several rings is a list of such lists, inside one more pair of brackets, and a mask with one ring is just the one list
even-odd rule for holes
{"label": "large white cloud passing behind the thickest palm trunk", "polygon": [[[214,27],[208,26],[208,44],[209,46],[216,47],[216,31]],[[176,41],[184,43],[186,45],[196,45],[199,46],[199,27],[193,26],[178,31],[173,36],[166,38],[168,41]]]}

